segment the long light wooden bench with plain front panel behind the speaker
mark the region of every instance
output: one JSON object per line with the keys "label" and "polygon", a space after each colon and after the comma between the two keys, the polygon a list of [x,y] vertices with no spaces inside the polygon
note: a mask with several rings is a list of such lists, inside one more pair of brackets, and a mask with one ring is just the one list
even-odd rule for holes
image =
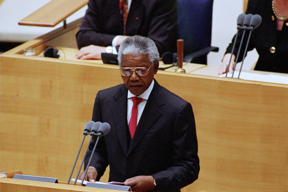
{"label": "long light wooden bench with plain front panel behind the speaker", "polygon": [[[122,83],[118,66],[22,55],[27,47],[76,48],[77,26],[0,55],[0,162],[7,170],[67,180],[97,91]],[[200,174],[183,192],[288,191],[287,85],[168,71],[155,78],[195,114]]]}

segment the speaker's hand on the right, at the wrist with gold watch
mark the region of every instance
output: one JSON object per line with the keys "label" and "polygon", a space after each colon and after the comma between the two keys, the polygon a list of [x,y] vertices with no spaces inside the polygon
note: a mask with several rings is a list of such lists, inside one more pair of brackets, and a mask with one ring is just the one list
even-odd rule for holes
{"label": "speaker's hand on the right, at the wrist with gold watch", "polygon": [[152,176],[137,176],[126,179],[125,186],[130,186],[133,192],[152,191],[154,186],[154,178]]}

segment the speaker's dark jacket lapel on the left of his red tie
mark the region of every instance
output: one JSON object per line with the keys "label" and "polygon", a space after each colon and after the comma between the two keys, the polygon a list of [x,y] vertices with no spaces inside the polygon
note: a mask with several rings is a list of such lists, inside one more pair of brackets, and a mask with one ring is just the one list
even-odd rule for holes
{"label": "speaker's dark jacket lapel on the left of his red tie", "polygon": [[117,127],[117,136],[124,154],[127,157],[127,93],[128,89],[123,84],[117,93],[113,96],[116,103],[111,107],[114,125]]}

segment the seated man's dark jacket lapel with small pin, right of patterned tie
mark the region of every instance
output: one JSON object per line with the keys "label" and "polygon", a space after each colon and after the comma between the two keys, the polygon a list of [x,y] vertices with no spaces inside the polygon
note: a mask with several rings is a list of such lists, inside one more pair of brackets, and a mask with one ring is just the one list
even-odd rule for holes
{"label": "seated man's dark jacket lapel with small pin, right of patterned tie", "polygon": [[133,0],[129,9],[126,35],[135,35],[139,33],[140,25],[143,20],[144,6],[143,0]]}

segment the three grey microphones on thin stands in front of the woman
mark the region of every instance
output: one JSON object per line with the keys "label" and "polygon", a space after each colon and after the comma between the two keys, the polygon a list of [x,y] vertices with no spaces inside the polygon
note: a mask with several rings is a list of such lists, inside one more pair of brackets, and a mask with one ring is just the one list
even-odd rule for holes
{"label": "three grey microphones on thin stands in front of the woman", "polygon": [[248,40],[247,40],[247,43],[246,43],[245,51],[244,51],[244,54],[243,54],[242,63],[241,63],[241,67],[240,67],[239,74],[238,74],[238,79],[239,79],[239,76],[240,76],[240,73],[241,73],[241,70],[242,70],[242,65],[243,65],[243,62],[244,62],[244,59],[245,59],[245,56],[246,56],[246,53],[247,53],[247,48],[248,48],[248,45],[249,45],[251,33],[252,33],[252,31],[254,29],[256,29],[261,24],[261,21],[262,21],[262,18],[258,14],[255,14],[255,15],[247,14],[246,15],[245,13],[242,13],[242,14],[240,14],[238,16],[238,18],[237,18],[237,33],[235,35],[234,44],[233,44],[232,52],[231,52],[231,57],[230,57],[230,60],[229,60],[229,64],[228,64],[228,67],[227,67],[227,70],[226,70],[226,76],[225,77],[227,77],[227,74],[228,74],[228,70],[229,70],[229,67],[230,67],[230,62],[232,60],[232,55],[234,53],[235,44],[236,44],[236,41],[237,41],[237,37],[238,37],[239,31],[243,30],[243,33],[242,33],[240,46],[239,46],[238,53],[237,53],[236,60],[235,60],[235,66],[234,66],[234,69],[233,69],[232,78],[233,78],[234,71],[236,69],[236,64],[238,62],[239,54],[240,54],[240,51],[241,51],[241,48],[242,48],[242,43],[243,43],[243,39],[244,39],[244,36],[245,36],[245,32],[246,31],[250,31],[250,32],[249,32]]}

